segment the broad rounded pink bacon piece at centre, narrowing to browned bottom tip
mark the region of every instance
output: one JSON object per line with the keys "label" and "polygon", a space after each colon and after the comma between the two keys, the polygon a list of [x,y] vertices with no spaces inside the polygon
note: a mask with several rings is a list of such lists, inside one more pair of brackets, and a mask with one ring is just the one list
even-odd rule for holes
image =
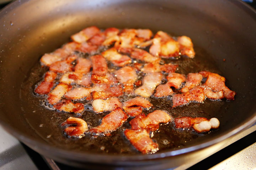
{"label": "broad rounded pink bacon piece at centre, narrowing to browned bottom tip", "polygon": [[137,79],[134,68],[130,66],[123,67],[115,72],[116,78],[124,85],[124,92],[132,92],[133,84]]}

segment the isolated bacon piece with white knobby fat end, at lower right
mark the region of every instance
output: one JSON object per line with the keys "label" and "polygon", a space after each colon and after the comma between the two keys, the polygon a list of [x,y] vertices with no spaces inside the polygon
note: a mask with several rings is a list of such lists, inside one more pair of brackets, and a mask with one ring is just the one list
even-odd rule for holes
{"label": "isolated bacon piece with white knobby fat end, at lower right", "polygon": [[219,128],[219,120],[217,118],[191,118],[181,117],[175,118],[175,128],[191,128],[193,127],[198,133],[208,132],[210,129]]}

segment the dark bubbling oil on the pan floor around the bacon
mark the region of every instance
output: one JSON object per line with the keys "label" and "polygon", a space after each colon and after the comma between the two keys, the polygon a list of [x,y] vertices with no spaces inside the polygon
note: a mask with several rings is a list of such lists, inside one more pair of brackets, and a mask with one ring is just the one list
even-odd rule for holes
{"label": "dark bubbling oil on the pan floor around the bacon", "polygon": [[[204,50],[195,47],[195,51],[196,56],[193,59],[179,57],[177,59],[165,59],[161,62],[178,64],[179,67],[176,72],[181,74],[196,73],[201,70],[221,74]],[[87,57],[87,55],[81,56]],[[109,68],[116,69],[111,63],[108,63],[108,66]],[[60,126],[68,117],[80,117],[86,121],[90,129],[91,127],[100,125],[101,119],[109,112],[95,113],[92,109],[91,102],[86,100],[79,101],[85,104],[85,111],[81,115],[54,111],[46,100],[47,96],[38,96],[33,93],[35,86],[42,80],[46,71],[47,68],[41,67],[39,62],[35,64],[30,73],[28,73],[27,79],[24,80],[20,91],[20,98],[23,103],[22,107],[26,113],[26,120],[34,129],[35,133],[41,136],[50,145],[68,150],[94,153],[139,154],[123,133],[125,129],[130,128],[129,120],[132,118],[129,118],[119,129],[112,132],[111,136],[93,137],[86,134],[80,139],[68,138],[63,133],[64,128]],[[124,102],[129,98],[132,98],[132,96],[124,95],[120,97],[119,100]],[[182,116],[220,118],[222,115],[219,111],[226,105],[225,101],[210,101],[207,99],[204,103],[190,103],[187,106],[171,109],[172,101],[170,96],[159,99],[150,97],[149,100],[154,107],[149,110],[144,110],[145,114],[160,109],[166,111],[174,118]],[[222,124],[222,122],[220,122],[220,124]],[[159,130],[152,132],[150,135],[159,145],[158,152],[161,152],[166,149],[174,150],[193,145],[196,139],[207,134],[208,133],[197,134],[192,129],[175,129],[174,124],[169,123],[161,124]]]}

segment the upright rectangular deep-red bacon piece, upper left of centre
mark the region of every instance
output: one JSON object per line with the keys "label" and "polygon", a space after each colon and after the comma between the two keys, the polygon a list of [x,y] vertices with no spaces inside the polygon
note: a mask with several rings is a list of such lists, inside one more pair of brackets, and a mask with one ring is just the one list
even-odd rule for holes
{"label": "upright rectangular deep-red bacon piece, upper left of centre", "polygon": [[92,74],[105,76],[107,73],[107,62],[101,55],[91,57],[92,60]]}

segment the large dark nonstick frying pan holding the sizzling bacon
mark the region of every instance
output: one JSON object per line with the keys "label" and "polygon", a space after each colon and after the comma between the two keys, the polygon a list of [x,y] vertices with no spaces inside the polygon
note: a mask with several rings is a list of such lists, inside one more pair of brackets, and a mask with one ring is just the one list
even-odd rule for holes
{"label": "large dark nonstick frying pan holding the sizzling bacon", "polygon": [[[200,158],[198,151],[229,140],[256,120],[256,12],[242,1],[18,0],[0,12],[0,23],[1,125],[30,148],[59,162],[86,164],[86,168],[89,164],[130,167],[164,163],[174,167]],[[237,92],[235,101],[216,111],[219,130],[181,149],[150,155],[79,152],[47,142],[27,121],[27,115],[34,115],[34,122],[39,122],[46,111],[36,107],[38,103],[24,104],[29,101],[21,98],[21,84],[44,53],[92,25],[149,28],[189,36],[196,53],[207,56],[227,79],[227,86]]]}

